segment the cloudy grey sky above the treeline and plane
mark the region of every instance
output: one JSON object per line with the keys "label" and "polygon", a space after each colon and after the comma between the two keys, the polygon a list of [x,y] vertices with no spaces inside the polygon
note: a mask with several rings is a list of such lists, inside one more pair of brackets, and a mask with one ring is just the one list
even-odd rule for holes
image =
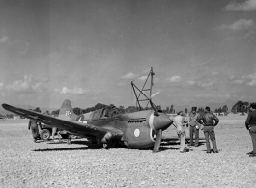
{"label": "cloudy grey sky above the treeline and plane", "polygon": [[256,0],[1,0],[0,101],[163,108],[256,102]]}

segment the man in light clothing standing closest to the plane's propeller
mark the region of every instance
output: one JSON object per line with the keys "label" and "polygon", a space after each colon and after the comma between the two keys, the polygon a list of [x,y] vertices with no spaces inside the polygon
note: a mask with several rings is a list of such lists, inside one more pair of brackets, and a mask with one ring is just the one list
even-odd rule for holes
{"label": "man in light clothing standing closest to the plane's propeller", "polygon": [[178,112],[177,116],[170,118],[177,128],[177,134],[180,140],[180,152],[185,153],[189,150],[185,147],[185,118],[183,117],[183,111]]}

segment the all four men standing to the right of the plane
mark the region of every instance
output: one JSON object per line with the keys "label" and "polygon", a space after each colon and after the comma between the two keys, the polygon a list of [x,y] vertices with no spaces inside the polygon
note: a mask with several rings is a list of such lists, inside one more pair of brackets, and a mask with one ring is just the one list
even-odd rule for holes
{"label": "all four men standing to the right of the plane", "polygon": [[[211,113],[210,107],[205,108],[203,114],[196,112],[197,108],[192,107],[189,114],[189,120],[186,121],[183,111],[180,111],[176,117],[170,118],[177,128],[177,134],[180,139],[180,152],[188,152],[189,149],[185,147],[185,125],[189,125],[190,143],[188,146],[198,147],[199,144],[199,130],[202,129],[206,139],[206,153],[218,153],[216,138],[214,132],[214,126],[219,122],[219,119]],[[252,140],[253,150],[247,154],[250,157],[256,157],[256,103],[251,103],[249,106],[249,112],[245,121],[246,129],[249,131]],[[195,143],[194,143],[195,136]],[[212,141],[213,150],[211,149],[210,141]]]}

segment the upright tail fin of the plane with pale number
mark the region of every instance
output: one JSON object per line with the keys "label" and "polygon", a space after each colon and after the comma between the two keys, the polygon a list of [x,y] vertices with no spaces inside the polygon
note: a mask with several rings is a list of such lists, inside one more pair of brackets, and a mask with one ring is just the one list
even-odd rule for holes
{"label": "upright tail fin of the plane with pale number", "polygon": [[78,116],[73,113],[71,100],[68,100],[68,99],[64,100],[64,102],[61,105],[58,118],[66,121],[71,121],[76,119],[77,117]]}

